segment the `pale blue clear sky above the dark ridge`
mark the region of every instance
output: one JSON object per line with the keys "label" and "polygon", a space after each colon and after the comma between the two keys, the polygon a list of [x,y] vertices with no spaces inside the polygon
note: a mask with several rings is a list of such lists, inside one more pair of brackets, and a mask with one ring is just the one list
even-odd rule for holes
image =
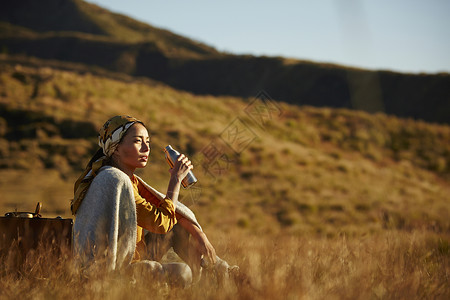
{"label": "pale blue clear sky above the dark ridge", "polygon": [[232,54],[450,73],[450,0],[89,0]]}

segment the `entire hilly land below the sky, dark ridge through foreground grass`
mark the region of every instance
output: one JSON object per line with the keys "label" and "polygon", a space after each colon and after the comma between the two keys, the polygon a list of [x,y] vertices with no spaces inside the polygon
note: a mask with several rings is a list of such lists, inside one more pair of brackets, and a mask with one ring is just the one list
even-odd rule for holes
{"label": "entire hilly land below the sky, dark ridge through foreground grass", "polygon": [[138,174],[165,192],[163,148],[186,153],[181,201],[240,267],[182,289],[42,249],[18,272],[13,245],[0,298],[450,298],[449,74],[224,54],[81,0],[2,3],[0,52],[0,215],[74,218],[98,129],[129,114],[151,135]]}

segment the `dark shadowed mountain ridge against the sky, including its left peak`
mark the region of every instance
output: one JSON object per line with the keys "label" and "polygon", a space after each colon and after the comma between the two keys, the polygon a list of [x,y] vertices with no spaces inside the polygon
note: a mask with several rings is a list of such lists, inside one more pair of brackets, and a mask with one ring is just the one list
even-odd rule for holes
{"label": "dark shadowed mountain ridge against the sky, including its left peak", "polygon": [[266,90],[297,105],[450,123],[450,75],[368,71],[230,55],[81,0],[21,0],[0,11],[0,49],[149,77],[197,94]]}

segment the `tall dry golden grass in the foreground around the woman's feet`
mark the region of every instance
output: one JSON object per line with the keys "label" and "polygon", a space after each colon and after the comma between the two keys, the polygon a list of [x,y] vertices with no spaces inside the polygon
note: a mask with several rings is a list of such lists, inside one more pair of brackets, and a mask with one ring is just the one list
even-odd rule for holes
{"label": "tall dry golden grass in the foreground around the woman's feet", "polygon": [[[449,236],[386,231],[332,239],[313,236],[220,239],[219,254],[240,266],[234,281],[188,288],[102,272],[83,276],[69,256],[30,259],[5,274],[2,299],[448,299]],[[31,258],[31,257],[30,257]]]}

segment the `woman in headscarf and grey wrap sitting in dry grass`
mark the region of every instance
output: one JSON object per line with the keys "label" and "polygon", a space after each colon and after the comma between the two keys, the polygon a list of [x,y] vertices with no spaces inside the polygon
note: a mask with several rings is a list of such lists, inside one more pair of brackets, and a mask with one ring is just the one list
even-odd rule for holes
{"label": "woman in headscarf and grey wrap sitting in dry grass", "polygon": [[155,261],[173,247],[190,267],[188,275],[181,272],[187,282],[190,271],[199,278],[202,262],[228,272],[195,215],[178,202],[181,181],[193,168],[185,155],[170,170],[164,195],[134,174],[147,165],[150,154],[149,133],[141,121],[111,118],[100,130],[99,145],[75,183],[71,205],[76,215],[74,251],[83,266],[101,265],[108,271],[148,268],[163,274],[164,266]]}

